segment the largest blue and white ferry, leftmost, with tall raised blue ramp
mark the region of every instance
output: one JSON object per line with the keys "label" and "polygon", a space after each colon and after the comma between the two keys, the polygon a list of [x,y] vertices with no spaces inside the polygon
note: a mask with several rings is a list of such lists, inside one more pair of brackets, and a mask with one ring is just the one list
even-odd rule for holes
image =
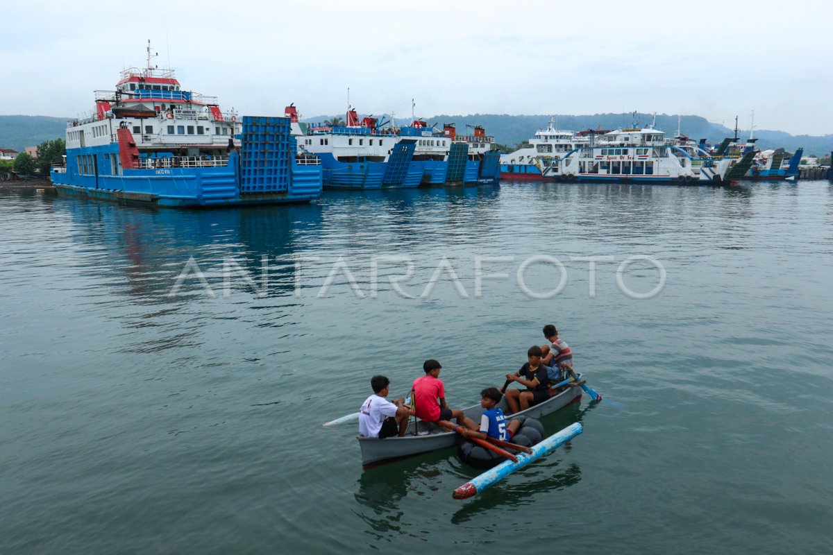
{"label": "largest blue and white ferry, leftmost, with tall raised blue ramp", "polygon": [[193,207],[321,195],[321,162],[297,154],[287,117],[238,120],[151,67],[153,56],[148,41],[147,67],[124,70],[114,91],[96,92],[94,111],[67,123],[66,161],[51,174],[59,193]]}

